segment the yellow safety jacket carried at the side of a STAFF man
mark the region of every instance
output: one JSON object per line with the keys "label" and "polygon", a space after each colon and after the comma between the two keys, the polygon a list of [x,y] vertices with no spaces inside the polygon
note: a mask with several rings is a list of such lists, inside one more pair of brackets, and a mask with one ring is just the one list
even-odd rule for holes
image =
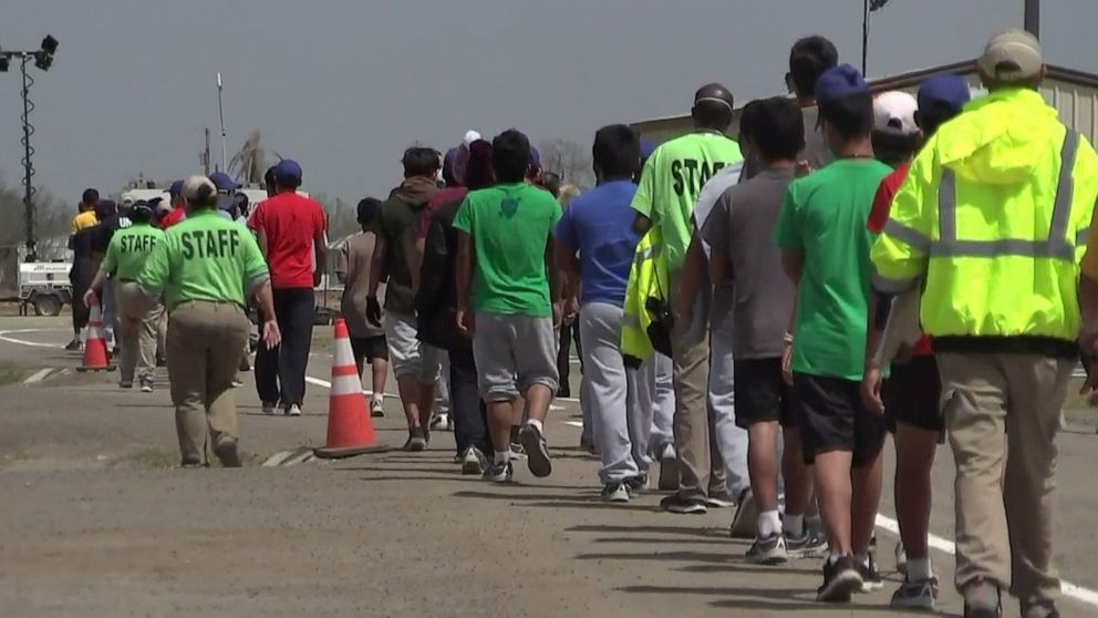
{"label": "yellow safety jacket carried at the side of a STAFF man", "polygon": [[649,327],[657,319],[650,308],[666,305],[670,278],[661,247],[663,236],[653,227],[641,238],[633,255],[622,307],[621,353],[644,360],[652,356]]}

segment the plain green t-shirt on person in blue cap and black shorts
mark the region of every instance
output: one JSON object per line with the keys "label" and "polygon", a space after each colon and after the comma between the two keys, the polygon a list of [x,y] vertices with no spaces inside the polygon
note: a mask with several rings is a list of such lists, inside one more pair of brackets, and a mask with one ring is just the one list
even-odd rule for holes
{"label": "plain green t-shirt on person in blue cap and black shorts", "polygon": [[838,159],[786,190],[774,241],[805,257],[793,346],[797,373],[862,378],[874,238],[866,222],[891,172],[872,159]]}

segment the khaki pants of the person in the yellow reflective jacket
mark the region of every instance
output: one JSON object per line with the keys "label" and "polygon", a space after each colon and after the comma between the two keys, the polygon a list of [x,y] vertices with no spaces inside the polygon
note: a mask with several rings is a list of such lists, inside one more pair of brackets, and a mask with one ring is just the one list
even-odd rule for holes
{"label": "khaki pants of the person in the yellow reflective jacket", "polygon": [[1054,598],[1056,431],[1073,362],[1034,354],[938,354],[956,462],[956,584]]}

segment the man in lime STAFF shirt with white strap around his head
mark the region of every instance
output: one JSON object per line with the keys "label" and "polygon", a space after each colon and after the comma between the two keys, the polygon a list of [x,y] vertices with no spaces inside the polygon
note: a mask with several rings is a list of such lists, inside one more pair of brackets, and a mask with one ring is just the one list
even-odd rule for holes
{"label": "man in lime STAFF shirt with white strap around his head", "polygon": [[[638,234],[648,233],[652,226],[661,229],[660,259],[667,267],[672,297],[680,286],[698,193],[721,169],[743,159],[739,146],[724,134],[732,124],[733,107],[732,93],[723,85],[698,89],[691,112],[695,131],[652,153],[633,198]],[[704,337],[694,341],[672,337],[680,488],[660,503],[671,513],[705,513],[709,504],[731,504],[723,499],[728,493],[724,462],[716,451],[716,441],[711,439],[714,423],[707,405],[708,360],[708,342]],[[712,503],[711,494],[716,498]]]}

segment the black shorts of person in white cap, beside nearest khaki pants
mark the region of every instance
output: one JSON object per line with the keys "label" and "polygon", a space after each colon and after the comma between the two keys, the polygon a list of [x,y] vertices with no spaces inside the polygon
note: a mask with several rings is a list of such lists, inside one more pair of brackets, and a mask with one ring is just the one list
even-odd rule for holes
{"label": "black shorts of person in white cap, beside nearest khaki pants", "polygon": [[942,377],[933,356],[918,356],[905,363],[892,363],[892,374],[881,387],[884,421],[895,432],[897,422],[941,433]]}

